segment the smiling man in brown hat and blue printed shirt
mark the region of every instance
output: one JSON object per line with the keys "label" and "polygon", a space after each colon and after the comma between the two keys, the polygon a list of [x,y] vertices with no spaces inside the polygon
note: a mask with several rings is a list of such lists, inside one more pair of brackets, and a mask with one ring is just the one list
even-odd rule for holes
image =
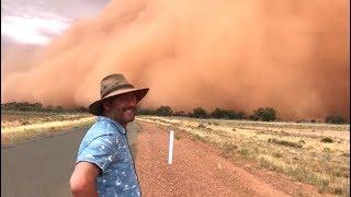
{"label": "smiling man in brown hat and blue printed shirt", "polygon": [[70,178],[75,197],[140,196],[126,126],[149,89],[136,89],[123,74],[101,81],[101,100],[89,106],[97,123],[82,139]]}

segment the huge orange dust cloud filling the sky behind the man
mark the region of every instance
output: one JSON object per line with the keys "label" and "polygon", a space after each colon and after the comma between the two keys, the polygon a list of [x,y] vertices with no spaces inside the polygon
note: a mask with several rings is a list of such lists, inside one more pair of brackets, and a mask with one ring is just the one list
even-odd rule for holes
{"label": "huge orange dust cloud filling the sky behind the man", "polygon": [[30,58],[4,56],[1,99],[87,106],[122,72],[150,88],[144,107],[349,119],[349,21],[346,0],[113,0]]}

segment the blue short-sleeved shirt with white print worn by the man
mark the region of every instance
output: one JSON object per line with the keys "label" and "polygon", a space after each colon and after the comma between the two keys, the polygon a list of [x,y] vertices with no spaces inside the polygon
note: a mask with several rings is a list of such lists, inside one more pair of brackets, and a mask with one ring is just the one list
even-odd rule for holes
{"label": "blue short-sleeved shirt with white print worn by the man", "polygon": [[99,196],[140,196],[125,129],[118,123],[98,117],[80,143],[76,163],[81,161],[100,167]]}

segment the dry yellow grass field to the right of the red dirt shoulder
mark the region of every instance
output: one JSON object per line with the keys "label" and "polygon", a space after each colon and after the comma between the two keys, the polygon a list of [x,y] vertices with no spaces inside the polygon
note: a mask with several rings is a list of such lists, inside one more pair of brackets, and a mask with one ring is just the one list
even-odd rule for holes
{"label": "dry yellow grass field to the right of the red dirt shoulder", "polygon": [[315,185],[321,193],[350,194],[350,125],[156,116],[137,119],[185,131],[193,140],[217,146],[225,157],[254,161]]}

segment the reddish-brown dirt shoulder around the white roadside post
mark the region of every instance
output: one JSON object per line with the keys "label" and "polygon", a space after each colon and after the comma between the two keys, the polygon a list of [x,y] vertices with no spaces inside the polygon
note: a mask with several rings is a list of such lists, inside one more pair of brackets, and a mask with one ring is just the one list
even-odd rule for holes
{"label": "reddish-brown dirt shoulder around the white roadside post", "polygon": [[169,165],[169,134],[160,126],[140,125],[135,163],[143,196],[320,196],[315,187],[284,175],[235,164],[185,135],[174,140]]}

